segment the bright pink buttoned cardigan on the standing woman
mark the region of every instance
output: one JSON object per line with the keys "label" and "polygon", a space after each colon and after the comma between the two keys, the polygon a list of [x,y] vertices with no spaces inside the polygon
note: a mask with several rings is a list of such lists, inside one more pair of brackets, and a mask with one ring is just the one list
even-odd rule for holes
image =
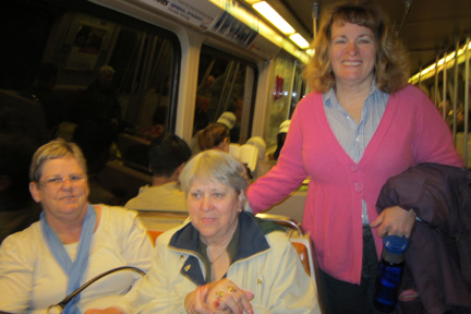
{"label": "bright pink buttoned cardigan on the standing woman", "polygon": [[[390,95],[383,119],[359,164],[331,132],[322,94],[301,100],[278,164],[247,191],[254,214],[282,201],[309,176],[302,226],[311,233],[321,268],[337,279],[360,283],[362,198],[370,221],[386,180],[420,162],[462,167],[448,126],[427,96],[414,86]],[[382,241],[375,235],[376,252]]]}

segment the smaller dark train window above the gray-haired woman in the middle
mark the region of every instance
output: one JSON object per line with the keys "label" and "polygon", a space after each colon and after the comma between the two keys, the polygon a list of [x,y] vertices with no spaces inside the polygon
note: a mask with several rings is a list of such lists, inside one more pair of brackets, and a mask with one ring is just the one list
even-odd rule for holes
{"label": "smaller dark train window above the gray-haired woman in the middle", "polygon": [[251,134],[256,75],[254,63],[203,46],[193,133],[231,111],[237,118],[231,142],[245,143]]}

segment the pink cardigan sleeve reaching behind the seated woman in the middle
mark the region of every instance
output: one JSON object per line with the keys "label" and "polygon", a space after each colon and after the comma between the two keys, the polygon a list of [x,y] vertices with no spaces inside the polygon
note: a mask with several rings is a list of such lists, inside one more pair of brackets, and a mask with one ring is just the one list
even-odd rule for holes
{"label": "pink cardigan sleeve reaching behind the seated woman in the middle", "polygon": [[302,105],[300,102],[291,119],[287,140],[277,165],[249,188],[247,200],[254,214],[265,210],[285,200],[307,177],[302,156],[302,129],[304,125],[302,125],[300,119],[300,111],[303,111],[301,108]]}

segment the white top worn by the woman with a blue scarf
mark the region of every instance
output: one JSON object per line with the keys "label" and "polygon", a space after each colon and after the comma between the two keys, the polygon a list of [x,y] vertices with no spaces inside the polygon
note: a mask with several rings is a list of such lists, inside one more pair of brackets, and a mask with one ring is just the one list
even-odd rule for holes
{"label": "white top worn by the woman with a blue scarf", "polygon": [[[101,218],[90,246],[81,286],[116,267],[150,267],[152,243],[137,214],[122,207],[101,207]],[[76,251],[77,243],[65,245]],[[129,270],[108,275],[81,293],[77,304],[88,309],[114,306],[131,312],[142,276]],[[44,239],[40,222],[7,238],[0,247],[0,311],[45,314],[67,294],[69,277],[56,262]]]}

